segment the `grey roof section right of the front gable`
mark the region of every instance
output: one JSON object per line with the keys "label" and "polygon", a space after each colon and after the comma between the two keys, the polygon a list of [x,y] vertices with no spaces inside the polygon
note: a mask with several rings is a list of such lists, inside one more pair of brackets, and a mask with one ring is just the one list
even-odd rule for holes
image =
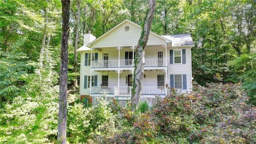
{"label": "grey roof section right of the front gable", "polygon": [[162,37],[165,37],[166,39],[172,41],[172,47],[195,46],[190,34],[163,35]]}

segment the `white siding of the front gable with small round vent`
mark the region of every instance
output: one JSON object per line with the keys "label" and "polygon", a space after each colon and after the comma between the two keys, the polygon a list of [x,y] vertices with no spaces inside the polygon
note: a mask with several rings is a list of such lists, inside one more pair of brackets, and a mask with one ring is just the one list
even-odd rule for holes
{"label": "white siding of the front gable with small round vent", "polygon": [[[125,31],[124,27],[129,26],[130,30]],[[130,22],[124,22],[122,25],[110,31],[109,34],[100,38],[92,44],[92,47],[115,47],[115,46],[135,46],[140,38],[141,28]],[[153,34],[149,35],[147,45],[166,44],[165,40]]]}

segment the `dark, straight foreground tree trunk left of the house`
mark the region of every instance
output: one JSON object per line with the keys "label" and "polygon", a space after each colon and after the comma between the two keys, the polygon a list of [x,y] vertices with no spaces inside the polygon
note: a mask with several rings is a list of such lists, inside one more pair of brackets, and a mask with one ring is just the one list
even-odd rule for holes
{"label": "dark, straight foreground tree trunk left of the house", "polygon": [[68,36],[70,0],[61,0],[62,3],[62,35],[60,51],[60,94],[59,94],[59,121],[58,141],[66,143],[67,132],[67,83],[68,83]]}

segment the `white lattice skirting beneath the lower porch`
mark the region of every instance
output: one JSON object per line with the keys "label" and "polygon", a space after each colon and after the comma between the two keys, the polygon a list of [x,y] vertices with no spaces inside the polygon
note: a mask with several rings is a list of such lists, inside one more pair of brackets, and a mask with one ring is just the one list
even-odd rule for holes
{"label": "white lattice skirting beneath the lower porch", "polygon": [[[98,106],[99,101],[102,99],[105,99],[109,105],[113,105],[114,102],[117,102],[118,105],[122,108],[125,108],[127,106],[127,103],[130,102],[131,97],[114,97],[114,96],[108,96],[108,97],[92,97],[92,106]],[[155,97],[155,96],[142,96],[140,97],[140,102],[146,102],[149,107],[152,107],[156,104],[157,100],[163,100],[163,97]]]}

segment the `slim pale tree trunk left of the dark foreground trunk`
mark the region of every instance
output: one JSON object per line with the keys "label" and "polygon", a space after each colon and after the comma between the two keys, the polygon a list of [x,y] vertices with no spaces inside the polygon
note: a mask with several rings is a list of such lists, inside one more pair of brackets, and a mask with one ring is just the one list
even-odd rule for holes
{"label": "slim pale tree trunk left of the dark foreground trunk", "polygon": [[47,6],[45,9],[45,12],[44,12],[45,13],[45,23],[44,23],[43,38],[42,38],[40,57],[39,57],[40,68],[43,67],[44,45],[45,45],[45,39],[46,39],[46,29],[47,29],[47,25],[48,25],[48,10],[49,10],[49,7]]}

